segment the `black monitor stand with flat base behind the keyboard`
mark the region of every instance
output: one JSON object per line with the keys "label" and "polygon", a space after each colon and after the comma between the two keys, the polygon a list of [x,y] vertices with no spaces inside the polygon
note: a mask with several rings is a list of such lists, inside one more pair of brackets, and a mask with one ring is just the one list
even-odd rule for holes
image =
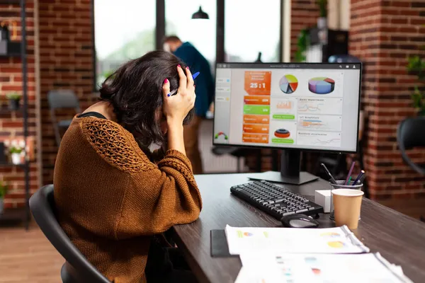
{"label": "black monitor stand with flat base behind the keyboard", "polygon": [[308,172],[300,172],[300,159],[301,151],[284,150],[280,155],[280,172],[268,171],[249,178],[292,185],[301,185],[319,179]]}

